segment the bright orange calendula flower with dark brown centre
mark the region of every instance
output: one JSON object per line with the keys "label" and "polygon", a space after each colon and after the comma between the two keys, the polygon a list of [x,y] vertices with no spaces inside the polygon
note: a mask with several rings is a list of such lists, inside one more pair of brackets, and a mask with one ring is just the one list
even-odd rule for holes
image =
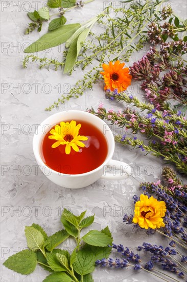
{"label": "bright orange calendula flower with dark brown centre", "polygon": [[114,65],[112,62],[109,62],[109,65],[102,65],[104,71],[100,73],[104,77],[105,90],[118,89],[118,93],[120,93],[131,84],[132,76],[129,74],[129,68],[123,69],[124,66],[125,63],[120,63],[120,61],[115,61]]}

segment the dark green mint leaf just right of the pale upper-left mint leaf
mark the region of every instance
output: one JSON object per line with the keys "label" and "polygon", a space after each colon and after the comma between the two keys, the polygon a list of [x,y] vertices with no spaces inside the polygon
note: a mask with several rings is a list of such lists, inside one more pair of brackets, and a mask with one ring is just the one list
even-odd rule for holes
{"label": "dark green mint leaf just right of the pale upper-left mint leaf", "polygon": [[66,230],[60,230],[56,232],[55,234],[51,235],[46,239],[46,245],[45,248],[48,249],[48,251],[53,251],[54,248],[56,248],[58,245],[60,245],[65,239],[69,237],[69,234]]}

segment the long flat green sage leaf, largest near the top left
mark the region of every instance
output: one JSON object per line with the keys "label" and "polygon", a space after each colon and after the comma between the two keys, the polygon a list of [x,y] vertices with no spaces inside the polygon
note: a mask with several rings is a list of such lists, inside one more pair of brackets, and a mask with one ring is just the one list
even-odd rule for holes
{"label": "long flat green sage leaf, largest near the top left", "polygon": [[67,41],[80,27],[80,24],[64,25],[41,36],[36,42],[25,49],[25,53],[43,51]]}

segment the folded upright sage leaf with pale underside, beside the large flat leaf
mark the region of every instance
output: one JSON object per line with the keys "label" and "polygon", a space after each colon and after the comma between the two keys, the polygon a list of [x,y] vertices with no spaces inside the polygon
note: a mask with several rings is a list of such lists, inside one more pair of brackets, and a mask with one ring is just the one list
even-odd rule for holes
{"label": "folded upright sage leaf with pale underside, beside the large flat leaf", "polygon": [[88,33],[89,33],[89,28],[86,28],[84,31],[81,32],[79,37],[76,38],[73,41],[73,43],[70,45],[69,50],[67,52],[63,73],[67,73],[73,69],[75,62],[77,60],[78,54],[82,48],[81,43],[85,41],[86,37],[88,36]]}

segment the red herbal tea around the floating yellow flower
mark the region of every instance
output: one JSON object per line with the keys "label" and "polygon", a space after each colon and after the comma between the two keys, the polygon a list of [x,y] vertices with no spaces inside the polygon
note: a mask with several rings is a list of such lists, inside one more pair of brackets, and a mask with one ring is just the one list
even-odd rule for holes
{"label": "red herbal tea around the floating yellow flower", "polygon": [[[67,120],[66,122],[70,122]],[[41,157],[46,166],[64,174],[81,174],[98,168],[107,156],[106,138],[97,127],[82,120],[76,120],[77,125],[81,124],[79,135],[88,137],[84,148],[79,147],[79,152],[71,149],[71,153],[65,153],[65,145],[52,148],[56,140],[49,139],[48,132],[42,142]],[[54,129],[55,127],[53,127]]]}

